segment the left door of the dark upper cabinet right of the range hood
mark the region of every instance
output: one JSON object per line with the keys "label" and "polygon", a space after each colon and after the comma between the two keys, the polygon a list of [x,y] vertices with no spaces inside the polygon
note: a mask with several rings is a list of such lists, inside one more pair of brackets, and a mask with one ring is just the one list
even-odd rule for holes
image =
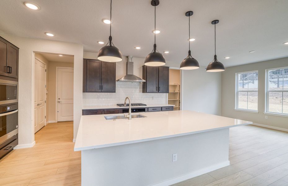
{"label": "left door of the dark upper cabinet right of the range hood", "polygon": [[146,66],[146,92],[158,92],[158,67]]}

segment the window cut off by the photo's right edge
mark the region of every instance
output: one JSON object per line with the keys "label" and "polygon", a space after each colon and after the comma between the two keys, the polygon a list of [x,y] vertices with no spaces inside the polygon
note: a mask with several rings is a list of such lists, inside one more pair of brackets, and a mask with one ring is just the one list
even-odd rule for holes
{"label": "window cut off by the photo's right edge", "polygon": [[288,115],[288,67],[266,71],[266,112]]}

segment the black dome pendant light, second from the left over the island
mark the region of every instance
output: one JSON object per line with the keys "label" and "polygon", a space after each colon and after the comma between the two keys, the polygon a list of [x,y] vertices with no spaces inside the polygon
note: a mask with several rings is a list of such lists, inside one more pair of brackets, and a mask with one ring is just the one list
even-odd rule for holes
{"label": "black dome pendant light, second from the left over the island", "polygon": [[[156,6],[159,5],[159,0],[152,0],[151,5],[154,7],[154,30],[156,30]],[[156,32],[154,32],[153,51],[146,56],[144,64],[147,66],[154,66],[154,67],[166,64],[163,55],[156,49]]]}

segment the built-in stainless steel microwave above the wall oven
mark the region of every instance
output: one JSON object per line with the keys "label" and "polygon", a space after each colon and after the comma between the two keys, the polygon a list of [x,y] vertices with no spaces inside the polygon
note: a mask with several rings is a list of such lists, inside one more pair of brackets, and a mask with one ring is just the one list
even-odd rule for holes
{"label": "built-in stainless steel microwave above the wall oven", "polygon": [[18,102],[18,82],[0,79],[0,105]]}

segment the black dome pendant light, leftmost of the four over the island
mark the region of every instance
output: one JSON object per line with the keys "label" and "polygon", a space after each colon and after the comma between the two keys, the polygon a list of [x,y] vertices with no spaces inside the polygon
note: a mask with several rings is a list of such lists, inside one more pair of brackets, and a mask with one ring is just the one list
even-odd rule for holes
{"label": "black dome pendant light, leftmost of the four over the island", "polygon": [[97,59],[106,62],[119,62],[122,61],[122,54],[117,47],[114,46],[111,36],[111,12],[112,12],[112,0],[110,1],[110,36],[109,44],[102,47],[98,53]]}

